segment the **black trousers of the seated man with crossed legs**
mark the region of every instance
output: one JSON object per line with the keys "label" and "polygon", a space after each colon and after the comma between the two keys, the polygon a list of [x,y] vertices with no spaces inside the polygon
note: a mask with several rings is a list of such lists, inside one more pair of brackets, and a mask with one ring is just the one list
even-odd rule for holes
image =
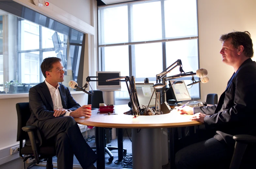
{"label": "black trousers of the seated man with crossed legs", "polygon": [[55,142],[58,168],[72,169],[74,155],[83,169],[96,161],[97,155],[84,140],[73,117],[39,121],[38,128],[43,142]]}

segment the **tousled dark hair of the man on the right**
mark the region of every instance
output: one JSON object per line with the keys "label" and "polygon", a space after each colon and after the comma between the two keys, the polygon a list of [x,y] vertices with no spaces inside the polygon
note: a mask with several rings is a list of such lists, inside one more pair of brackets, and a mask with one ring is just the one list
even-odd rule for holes
{"label": "tousled dark hair of the man on the right", "polygon": [[223,34],[220,36],[219,40],[221,42],[224,42],[225,40],[228,40],[232,38],[232,45],[235,48],[238,48],[238,46],[243,45],[244,46],[244,54],[246,57],[252,58],[253,57],[253,44],[251,40],[251,34],[248,31],[245,32],[230,32],[227,34]]}

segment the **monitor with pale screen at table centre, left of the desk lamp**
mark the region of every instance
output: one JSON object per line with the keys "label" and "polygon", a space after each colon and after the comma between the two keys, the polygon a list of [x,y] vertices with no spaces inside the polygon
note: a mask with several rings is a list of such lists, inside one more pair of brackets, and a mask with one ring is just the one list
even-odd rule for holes
{"label": "monitor with pale screen at table centre, left of the desk lamp", "polygon": [[[156,94],[154,92],[153,83],[135,83],[136,91],[137,91],[137,97],[140,105],[149,106],[148,107],[154,107],[156,104]],[[153,97],[150,101],[150,98],[153,94]],[[149,103],[150,101],[150,103]],[[141,106],[141,108],[143,108]]]}

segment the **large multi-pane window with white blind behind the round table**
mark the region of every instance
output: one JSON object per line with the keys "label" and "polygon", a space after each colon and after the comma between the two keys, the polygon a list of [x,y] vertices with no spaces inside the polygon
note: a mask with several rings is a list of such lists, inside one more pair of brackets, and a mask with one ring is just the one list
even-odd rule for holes
{"label": "large multi-pane window with white blind behind the round table", "polygon": [[[196,0],[154,0],[98,7],[98,41],[101,71],[121,71],[136,83],[149,78],[181,59],[185,72],[199,68]],[[179,74],[173,69],[167,76]],[[195,78],[198,80],[198,78]],[[191,77],[180,78],[186,85]],[[126,94],[125,94],[126,93]],[[200,85],[189,88],[200,98]],[[128,98],[126,86],[116,98]]]}

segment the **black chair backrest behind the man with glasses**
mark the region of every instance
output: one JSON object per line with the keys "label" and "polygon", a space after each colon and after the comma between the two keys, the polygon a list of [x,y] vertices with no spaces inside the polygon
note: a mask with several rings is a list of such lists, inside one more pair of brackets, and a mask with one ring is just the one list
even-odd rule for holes
{"label": "black chair backrest behind the man with glasses", "polygon": [[22,127],[26,126],[26,123],[31,115],[29,103],[17,103],[16,110],[18,116],[17,141],[20,141],[28,138],[27,133],[22,130]]}

